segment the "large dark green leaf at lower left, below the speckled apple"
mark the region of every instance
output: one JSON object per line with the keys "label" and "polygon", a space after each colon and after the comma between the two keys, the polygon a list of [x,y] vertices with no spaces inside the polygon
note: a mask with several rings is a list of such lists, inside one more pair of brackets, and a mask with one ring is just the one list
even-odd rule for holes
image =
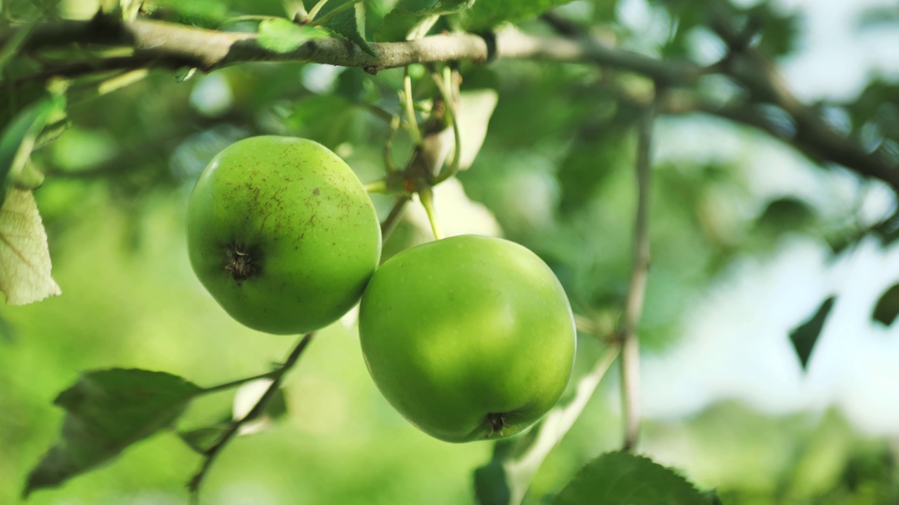
{"label": "large dark green leaf at lower left, below the speckled apple", "polygon": [[85,373],[54,402],[66,410],[62,434],[28,475],[23,495],[57,486],[166,428],[202,388],[139,369]]}

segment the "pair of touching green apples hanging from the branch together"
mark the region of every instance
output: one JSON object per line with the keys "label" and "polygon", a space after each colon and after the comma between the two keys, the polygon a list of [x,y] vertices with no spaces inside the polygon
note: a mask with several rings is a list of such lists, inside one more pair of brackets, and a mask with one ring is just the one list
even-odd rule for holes
{"label": "pair of touching green apples hanging from the branch together", "polygon": [[380,246],[359,179],[307,139],[228,146],[188,206],[191,265],[238,322],[313,332],[361,298],[372,379],[433,437],[509,437],[558,401],[574,362],[574,324],[565,291],[536,254],[462,235],[378,266]]}

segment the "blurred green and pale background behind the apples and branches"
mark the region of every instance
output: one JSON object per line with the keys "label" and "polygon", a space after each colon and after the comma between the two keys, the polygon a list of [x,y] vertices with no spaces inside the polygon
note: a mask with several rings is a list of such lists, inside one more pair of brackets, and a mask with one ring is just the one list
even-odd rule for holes
{"label": "blurred green and pale background behind the apples and branches", "polygon": [[[280,2],[184,5],[198,10],[189,16],[198,23],[285,13]],[[84,18],[97,6],[67,0],[52,12]],[[895,154],[894,6],[737,5],[763,20],[761,47],[800,98]],[[11,2],[4,16],[26,19],[35,8]],[[623,47],[710,63],[724,48],[701,12],[690,2],[645,0],[582,0],[558,11]],[[549,31],[538,21],[521,26]],[[556,270],[575,313],[612,327],[630,275],[637,115],[616,88],[645,82],[548,62],[463,64],[460,72],[463,91],[494,89],[499,102],[476,163],[438,188],[444,227],[527,245]],[[184,240],[193,182],[218,150],[261,133],[313,138],[363,182],[378,179],[388,126],[369,105],[397,111],[401,78],[402,70],[371,76],[257,63],[184,82],[153,71],[70,100],[72,127],[33,157],[47,174],[35,196],[63,295],[0,308],[0,503],[18,501],[26,474],[58,436],[62,412],[51,402],[80,371],[165,370],[206,386],[284,358],[291,338],[233,322],[195,279]],[[734,93],[714,79],[700,89]],[[639,452],[716,489],[725,503],[896,503],[899,334],[872,323],[870,311],[899,279],[899,253],[864,233],[895,208],[895,195],[725,120],[665,116],[655,132],[654,257],[641,325],[648,419]],[[397,138],[397,159],[408,146]],[[390,199],[374,199],[384,217]],[[410,209],[385,254],[428,234],[422,211]],[[833,293],[838,304],[803,371],[788,332]],[[580,339],[583,373],[601,346]],[[227,447],[204,503],[474,502],[471,475],[492,445],[446,444],[400,418],[369,379],[352,317],[316,338],[286,385],[289,416]],[[216,421],[230,402],[227,393],[205,399],[182,425]],[[620,430],[613,369],[541,467],[531,502],[619,447]],[[29,502],[183,503],[199,463],[166,433]]]}

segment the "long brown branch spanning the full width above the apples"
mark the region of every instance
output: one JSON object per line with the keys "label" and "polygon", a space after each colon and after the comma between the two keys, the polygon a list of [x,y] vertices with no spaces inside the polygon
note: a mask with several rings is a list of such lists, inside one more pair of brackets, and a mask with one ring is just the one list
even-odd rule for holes
{"label": "long brown branch spanning the full width above the apples", "polygon": [[[477,35],[448,33],[406,42],[371,43],[371,56],[345,40],[310,40],[289,52],[266,49],[255,33],[211,31],[172,22],[138,19],[120,22],[109,17],[90,21],[66,21],[41,24],[31,28],[23,51],[58,48],[70,44],[125,47],[129,56],[99,58],[94,61],[70,62],[45,68],[31,79],[47,79],[52,75],[77,76],[111,70],[133,68],[179,68],[191,66],[209,72],[223,66],[251,61],[304,61],[336,66],[362,67],[369,72],[413,63],[471,60],[486,62],[493,58],[519,58],[556,62],[585,63],[608,66],[668,85],[690,86],[702,75],[720,72],[746,86],[753,102],[770,102],[787,112],[796,122],[796,134],[778,136],[819,162],[841,164],[865,177],[879,179],[899,193],[899,162],[879,153],[863,150],[851,137],[828,128],[813,108],[797,100],[788,91],[774,66],[756,49],[739,45],[740,33],[722,14],[717,23],[719,35],[733,44],[734,54],[721,65],[699,66],[690,61],[670,61],[610,47],[600,40],[580,33],[576,36],[536,36],[521,31],[505,30],[495,34],[495,46]],[[14,40],[19,31],[0,31],[0,47]],[[565,31],[571,35],[571,30]],[[491,47],[495,47],[492,51]],[[742,52],[741,52],[742,51]],[[20,79],[21,80],[21,79]],[[722,110],[717,115],[727,118]],[[708,112],[708,111],[707,111]],[[745,116],[745,114],[743,114]],[[757,116],[757,115],[755,115]],[[728,118],[730,119],[730,118]],[[762,121],[742,121],[755,128],[765,128]]]}

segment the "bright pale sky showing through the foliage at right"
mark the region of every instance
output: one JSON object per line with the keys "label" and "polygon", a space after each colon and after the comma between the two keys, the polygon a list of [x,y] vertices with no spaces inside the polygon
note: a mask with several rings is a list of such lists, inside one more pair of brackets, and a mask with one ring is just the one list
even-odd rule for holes
{"label": "bright pale sky showing through the foliage at right", "polygon": [[[625,4],[631,22],[640,22],[640,13],[646,13],[642,0]],[[899,26],[858,28],[866,8],[895,7],[894,2],[780,0],[778,5],[804,15],[799,51],[779,62],[802,100],[849,99],[869,75],[899,75]],[[746,137],[699,118],[678,120],[677,128],[660,121],[656,131],[657,158],[742,156],[761,199],[795,194],[833,215],[849,212],[861,195],[859,215],[868,223],[895,205],[883,185],[859,182],[839,170],[823,172],[769,137]],[[826,244],[799,236],[766,257],[735,261],[684,318],[681,343],[645,358],[645,414],[680,418],[722,399],[780,414],[836,405],[861,430],[899,435],[899,324],[886,328],[870,321],[877,298],[897,281],[899,247],[881,250],[873,239],[837,261]],[[832,294],[836,304],[804,373],[788,334]]]}

